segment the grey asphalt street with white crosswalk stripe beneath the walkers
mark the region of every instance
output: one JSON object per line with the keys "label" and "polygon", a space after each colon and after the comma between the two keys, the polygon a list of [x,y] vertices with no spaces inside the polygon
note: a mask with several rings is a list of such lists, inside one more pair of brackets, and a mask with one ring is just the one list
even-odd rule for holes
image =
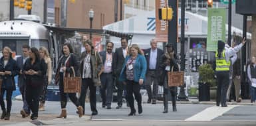
{"label": "grey asphalt street with white crosswalk stripe beneath the walkers", "polygon": [[[0,121],[0,125],[256,125],[256,105],[229,105],[228,107],[216,107],[206,104],[178,104],[178,111],[172,111],[169,103],[169,112],[162,113],[162,103],[156,105],[144,103],[143,113],[128,116],[130,109],[124,107],[116,109],[116,103],[112,103],[112,109],[101,107],[97,103],[98,115],[90,116],[90,103],[86,103],[86,115],[78,118],[76,107],[68,102],[67,119],[56,119],[61,112],[59,101],[47,101],[46,111],[39,112],[39,120],[31,123],[29,118],[22,119],[19,115],[22,101],[13,101],[10,121]],[[137,105],[136,105],[137,107]]]}

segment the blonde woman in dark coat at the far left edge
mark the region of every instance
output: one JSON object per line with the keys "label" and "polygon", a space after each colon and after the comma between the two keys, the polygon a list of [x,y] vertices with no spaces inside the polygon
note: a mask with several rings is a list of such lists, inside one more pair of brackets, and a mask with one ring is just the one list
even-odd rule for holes
{"label": "blonde woman in dark coat at the far left edge", "polygon": [[[2,109],[1,119],[9,120],[11,112],[11,96],[15,88],[14,77],[19,73],[16,61],[12,58],[11,48],[3,48],[3,57],[0,59],[0,76],[2,80],[0,105]],[[5,102],[3,101],[3,95],[6,92],[7,110],[5,109]]]}

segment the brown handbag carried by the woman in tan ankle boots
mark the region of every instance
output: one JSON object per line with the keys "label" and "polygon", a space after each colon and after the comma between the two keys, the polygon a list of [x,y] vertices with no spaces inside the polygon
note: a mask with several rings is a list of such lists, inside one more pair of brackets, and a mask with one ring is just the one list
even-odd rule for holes
{"label": "brown handbag carried by the woman in tan ankle boots", "polygon": [[75,76],[74,68],[71,67],[72,70],[72,76],[68,74],[67,77],[64,77],[64,93],[80,93],[81,91],[81,78],[78,76]]}

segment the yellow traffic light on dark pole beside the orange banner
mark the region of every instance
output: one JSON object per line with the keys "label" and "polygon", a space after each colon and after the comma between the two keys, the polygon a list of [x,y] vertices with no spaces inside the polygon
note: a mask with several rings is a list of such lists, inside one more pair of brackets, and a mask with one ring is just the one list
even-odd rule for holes
{"label": "yellow traffic light on dark pole beside the orange banner", "polygon": [[164,7],[162,9],[158,9],[158,18],[160,20],[171,21],[173,17],[173,9],[171,7]]}

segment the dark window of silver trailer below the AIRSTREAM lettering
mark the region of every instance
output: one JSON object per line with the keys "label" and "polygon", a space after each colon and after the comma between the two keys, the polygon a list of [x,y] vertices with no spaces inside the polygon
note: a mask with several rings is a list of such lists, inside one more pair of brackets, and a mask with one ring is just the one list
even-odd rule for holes
{"label": "dark window of silver trailer below the AIRSTREAM lettering", "polygon": [[0,50],[2,51],[2,48],[5,46],[8,46],[11,48],[13,52],[15,52],[16,55],[22,55],[22,46],[23,44],[29,45],[28,39],[0,39]]}

